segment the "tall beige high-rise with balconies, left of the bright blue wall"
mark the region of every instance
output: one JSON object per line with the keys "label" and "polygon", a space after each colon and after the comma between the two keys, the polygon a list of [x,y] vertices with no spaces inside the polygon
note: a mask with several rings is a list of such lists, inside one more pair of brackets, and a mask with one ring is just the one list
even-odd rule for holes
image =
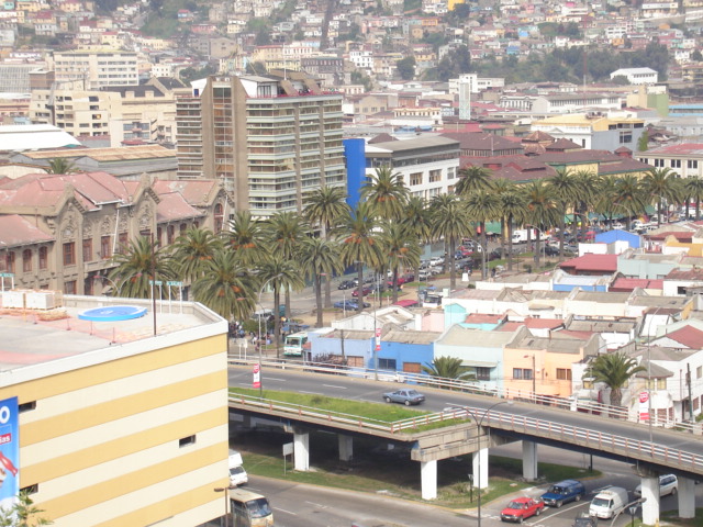
{"label": "tall beige high-rise with balconies, left of the bright blue wall", "polygon": [[305,74],[210,77],[179,100],[177,123],[179,177],[223,180],[255,216],[345,184],[342,96]]}

